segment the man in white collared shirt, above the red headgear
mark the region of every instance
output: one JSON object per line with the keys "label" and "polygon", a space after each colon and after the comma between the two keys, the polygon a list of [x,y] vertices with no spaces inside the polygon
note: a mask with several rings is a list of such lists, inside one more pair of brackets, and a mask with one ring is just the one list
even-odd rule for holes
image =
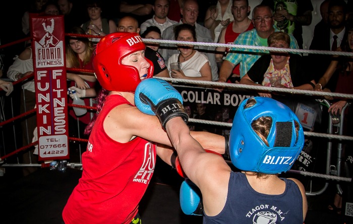
{"label": "man in white collared shirt, above the red headgear", "polygon": [[152,19],[148,19],[143,22],[140,26],[140,34],[145,32],[147,27],[156,26],[160,29],[160,32],[163,31],[174,24],[177,24],[177,21],[169,20],[167,15],[169,12],[169,0],[155,0],[152,7],[154,15]]}

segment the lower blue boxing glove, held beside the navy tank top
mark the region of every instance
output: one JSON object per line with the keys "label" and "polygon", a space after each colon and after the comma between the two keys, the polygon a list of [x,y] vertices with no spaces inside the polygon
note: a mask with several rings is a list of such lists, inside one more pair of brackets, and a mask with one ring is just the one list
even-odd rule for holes
{"label": "lower blue boxing glove, held beside the navy tank top", "polygon": [[180,206],[185,214],[203,215],[201,191],[189,179],[183,181],[180,187]]}

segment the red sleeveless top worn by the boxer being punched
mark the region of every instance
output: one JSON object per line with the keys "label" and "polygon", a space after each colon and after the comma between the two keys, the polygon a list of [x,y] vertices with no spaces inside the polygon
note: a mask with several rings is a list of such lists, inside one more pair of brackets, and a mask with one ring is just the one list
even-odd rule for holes
{"label": "red sleeveless top worn by the boxer being punched", "polygon": [[130,104],[119,95],[106,97],[82,155],[82,177],[63,211],[69,223],[130,223],[152,178],[156,145],[136,137],[120,143],[103,129],[107,114]]}

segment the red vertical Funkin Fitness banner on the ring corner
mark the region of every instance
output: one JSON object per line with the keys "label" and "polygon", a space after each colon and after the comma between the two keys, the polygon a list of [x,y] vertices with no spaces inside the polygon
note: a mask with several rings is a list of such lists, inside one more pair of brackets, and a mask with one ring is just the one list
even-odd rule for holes
{"label": "red vertical Funkin Fitness banner on the ring corner", "polygon": [[63,16],[32,16],[39,161],[69,159]]}

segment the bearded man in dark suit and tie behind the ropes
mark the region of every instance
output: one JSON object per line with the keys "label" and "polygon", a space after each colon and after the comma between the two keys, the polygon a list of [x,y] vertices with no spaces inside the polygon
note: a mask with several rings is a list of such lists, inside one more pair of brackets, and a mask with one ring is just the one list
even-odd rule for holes
{"label": "bearded man in dark suit and tie behind the ropes", "polygon": [[[314,35],[310,45],[310,50],[331,50],[335,51],[347,39],[346,22],[348,19],[347,4],[343,0],[330,1],[328,7],[328,25],[324,35]],[[312,54],[309,55],[311,69],[316,74],[315,81],[324,74],[327,66],[332,60],[331,55]],[[323,65],[327,66],[323,66]],[[333,76],[336,77],[336,76]],[[334,91],[336,82],[330,82],[327,88]]]}

